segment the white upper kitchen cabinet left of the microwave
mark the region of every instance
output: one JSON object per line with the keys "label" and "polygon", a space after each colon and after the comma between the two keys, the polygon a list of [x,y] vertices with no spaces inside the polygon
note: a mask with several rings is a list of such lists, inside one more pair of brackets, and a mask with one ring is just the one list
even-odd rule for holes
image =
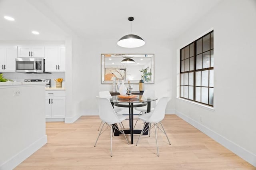
{"label": "white upper kitchen cabinet left of the microwave", "polygon": [[17,56],[17,47],[0,47],[0,71],[15,71]]}

